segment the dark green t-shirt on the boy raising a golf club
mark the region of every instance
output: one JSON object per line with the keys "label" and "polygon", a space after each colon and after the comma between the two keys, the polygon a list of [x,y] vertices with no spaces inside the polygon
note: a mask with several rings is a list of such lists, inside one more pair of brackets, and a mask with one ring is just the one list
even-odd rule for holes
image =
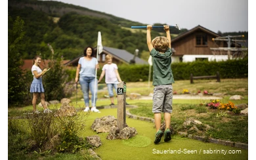
{"label": "dark green t-shirt on the boy raising a golf club", "polygon": [[171,49],[160,53],[152,49],[150,55],[153,63],[153,85],[169,85],[174,83],[173,71],[171,70]]}

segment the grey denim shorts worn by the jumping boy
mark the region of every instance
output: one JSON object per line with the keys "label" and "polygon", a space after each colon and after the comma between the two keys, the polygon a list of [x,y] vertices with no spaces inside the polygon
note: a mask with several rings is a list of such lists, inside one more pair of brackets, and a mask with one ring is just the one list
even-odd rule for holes
{"label": "grey denim shorts worn by the jumping boy", "polygon": [[173,112],[173,85],[156,85],[154,87],[152,112]]}

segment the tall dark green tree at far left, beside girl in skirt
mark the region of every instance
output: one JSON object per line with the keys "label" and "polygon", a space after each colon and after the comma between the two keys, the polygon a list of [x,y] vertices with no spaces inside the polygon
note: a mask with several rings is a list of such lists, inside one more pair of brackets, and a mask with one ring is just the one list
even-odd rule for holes
{"label": "tall dark green tree at far left, beside girl in skirt", "polygon": [[[13,21],[8,16],[8,104],[9,106],[22,106],[26,101],[26,76],[20,68],[24,64],[19,52],[20,43],[25,35],[24,20],[19,16]],[[22,103],[22,104],[20,104]]]}

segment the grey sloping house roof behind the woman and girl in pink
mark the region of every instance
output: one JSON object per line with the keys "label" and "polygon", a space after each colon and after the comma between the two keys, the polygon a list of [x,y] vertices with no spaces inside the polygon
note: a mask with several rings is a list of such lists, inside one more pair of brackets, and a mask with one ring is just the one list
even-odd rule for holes
{"label": "grey sloping house roof behind the woman and girl in pink", "polygon": [[[95,47],[94,49],[96,52],[97,47]],[[133,60],[133,57],[134,57],[134,54],[127,52],[127,50],[115,49],[115,48],[106,47],[106,46],[103,46],[102,52],[104,52],[105,54],[111,54],[114,58],[116,58],[117,60],[119,60],[125,64],[130,64],[130,60]],[[81,58],[82,56],[83,56],[83,54],[77,56],[76,58],[74,58],[73,60],[70,60],[69,62],[66,62],[66,64],[64,64],[64,65],[68,66],[70,64],[77,64],[79,58]],[[141,58],[136,56],[135,64],[148,64],[148,62],[146,62],[145,60],[142,60]]]}

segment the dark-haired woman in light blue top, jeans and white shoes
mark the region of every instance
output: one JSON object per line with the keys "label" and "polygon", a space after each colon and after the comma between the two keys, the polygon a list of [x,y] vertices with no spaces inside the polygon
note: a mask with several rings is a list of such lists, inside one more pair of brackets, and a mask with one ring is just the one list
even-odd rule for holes
{"label": "dark-haired woman in light blue top, jeans and white shoes", "polygon": [[89,90],[91,90],[91,111],[99,113],[100,111],[96,109],[98,80],[95,76],[96,70],[99,68],[98,60],[93,57],[95,55],[93,47],[86,47],[85,50],[83,50],[83,55],[84,56],[79,58],[78,61],[75,83],[78,82],[79,77],[83,99],[85,100],[85,110],[83,111],[90,111]]}

